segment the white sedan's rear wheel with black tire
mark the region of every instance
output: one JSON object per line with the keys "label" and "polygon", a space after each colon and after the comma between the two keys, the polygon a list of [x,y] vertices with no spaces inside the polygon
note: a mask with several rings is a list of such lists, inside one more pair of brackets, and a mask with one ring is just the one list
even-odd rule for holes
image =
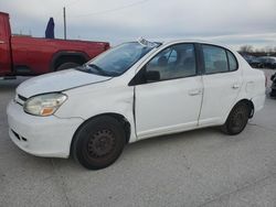
{"label": "white sedan's rear wheel with black tire", "polygon": [[226,122],[221,130],[230,135],[241,133],[246,127],[250,118],[250,107],[245,102],[237,103],[230,112]]}

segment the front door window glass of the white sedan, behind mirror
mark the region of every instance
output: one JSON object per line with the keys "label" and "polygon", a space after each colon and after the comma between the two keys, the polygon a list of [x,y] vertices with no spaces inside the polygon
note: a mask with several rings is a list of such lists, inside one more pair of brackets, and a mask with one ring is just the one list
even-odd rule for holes
{"label": "front door window glass of the white sedan, behind mirror", "polygon": [[159,72],[160,80],[197,74],[193,44],[177,44],[157,54],[146,66],[147,72]]}

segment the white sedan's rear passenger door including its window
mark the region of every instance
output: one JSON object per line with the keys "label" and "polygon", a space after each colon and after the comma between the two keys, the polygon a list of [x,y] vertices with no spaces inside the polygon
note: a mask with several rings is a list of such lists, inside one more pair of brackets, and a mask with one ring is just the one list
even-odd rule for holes
{"label": "white sedan's rear passenger door including its window", "polygon": [[221,124],[234,105],[242,87],[242,73],[232,52],[202,44],[203,103],[199,124]]}

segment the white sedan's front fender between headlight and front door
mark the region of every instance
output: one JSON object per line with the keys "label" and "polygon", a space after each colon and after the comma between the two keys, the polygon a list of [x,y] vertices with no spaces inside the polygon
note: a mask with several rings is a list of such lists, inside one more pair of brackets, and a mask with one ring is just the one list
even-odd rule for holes
{"label": "white sedan's front fender between headlight and front door", "polygon": [[[116,113],[130,124],[129,142],[137,140],[134,119],[134,87],[126,87],[117,81],[95,84],[63,91],[68,99],[55,112],[60,118],[82,118],[84,121],[94,117]],[[91,97],[91,98],[88,98]]]}

